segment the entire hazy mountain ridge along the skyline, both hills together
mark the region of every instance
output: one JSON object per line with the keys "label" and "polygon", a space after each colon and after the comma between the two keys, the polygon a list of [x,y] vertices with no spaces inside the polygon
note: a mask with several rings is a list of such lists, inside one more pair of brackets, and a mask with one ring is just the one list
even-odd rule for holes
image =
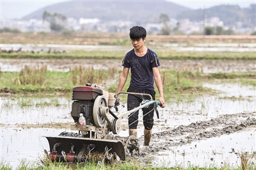
{"label": "entire hazy mountain ridge along the skyline, both hills together", "polygon": [[[240,8],[238,5],[219,5],[205,9],[208,19],[218,17],[225,26],[234,26],[239,22],[245,27],[255,27],[255,6]],[[169,19],[189,19],[192,22],[204,20],[204,9],[191,10],[170,1],[65,1],[52,4],[23,17],[24,20],[42,19],[43,13],[60,13],[75,19],[97,18],[103,22],[132,21],[134,24],[156,23],[164,13]]]}

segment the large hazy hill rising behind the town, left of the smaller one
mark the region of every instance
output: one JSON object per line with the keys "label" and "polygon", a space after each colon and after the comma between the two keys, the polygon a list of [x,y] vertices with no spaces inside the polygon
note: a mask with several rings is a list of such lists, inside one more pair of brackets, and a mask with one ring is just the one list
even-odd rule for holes
{"label": "large hazy hill rising behind the town, left of the smaller one", "polygon": [[75,19],[98,18],[104,21],[132,20],[138,23],[152,22],[164,13],[175,18],[181,12],[191,11],[169,1],[67,1],[47,6],[33,12],[23,19],[42,19],[44,11],[60,13],[65,17]]}

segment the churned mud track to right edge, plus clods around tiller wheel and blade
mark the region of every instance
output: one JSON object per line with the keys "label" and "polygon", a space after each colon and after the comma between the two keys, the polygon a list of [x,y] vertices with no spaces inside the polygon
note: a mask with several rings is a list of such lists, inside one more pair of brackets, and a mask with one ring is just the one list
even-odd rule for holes
{"label": "churned mud track to right edge, plus clods around tiller wheel and blade", "polygon": [[[127,161],[138,160],[139,158],[139,162],[145,162],[144,159],[148,159],[148,156],[154,156],[163,151],[171,151],[173,146],[189,145],[192,142],[199,142],[212,137],[234,134],[235,132],[242,132],[246,128],[256,128],[256,112],[223,114],[218,118],[196,121],[189,125],[179,125],[176,128],[165,127],[165,130],[152,134],[149,146],[144,146],[143,135],[136,140],[132,137],[132,141],[136,141],[136,143],[129,145],[127,145],[127,141],[129,143],[131,137],[107,135],[104,139],[122,141],[126,150]],[[77,137],[77,133],[73,132],[62,132],[60,135]],[[196,144],[193,147],[196,148]]]}

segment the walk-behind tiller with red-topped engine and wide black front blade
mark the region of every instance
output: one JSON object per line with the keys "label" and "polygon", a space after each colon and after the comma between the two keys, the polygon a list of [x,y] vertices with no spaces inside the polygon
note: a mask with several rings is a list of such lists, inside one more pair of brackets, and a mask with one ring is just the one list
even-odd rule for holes
{"label": "walk-behind tiller with red-topped engine and wide black front blade", "polygon": [[[101,163],[103,160],[105,164],[113,164],[115,160],[125,160],[127,150],[129,152],[138,150],[136,147],[129,148],[129,140],[136,141],[133,136],[127,137],[126,141],[115,138],[115,135],[122,130],[122,119],[152,104],[155,105],[158,117],[156,107],[160,102],[152,100],[148,94],[120,92],[118,95],[121,93],[148,96],[150,100],[144,100],[140,107],[121,113],[124,105],[117,106],[119,101],[116,100],[118,98],[115,97],[115,93],[109,93],[92,84],[75,87],[72,93],[74,102],[71,111],[75,123],[71,125],[71,130],[78,130],[78,133],[70,135],[69,132],[62,132],[55,137],[47,136],[51,150],[50,153],[45,150],[47,157],[52,161]],[[79,125],[81,113],[86,120],[85,125]],[[114,137],[108,139],[111,132]]]}

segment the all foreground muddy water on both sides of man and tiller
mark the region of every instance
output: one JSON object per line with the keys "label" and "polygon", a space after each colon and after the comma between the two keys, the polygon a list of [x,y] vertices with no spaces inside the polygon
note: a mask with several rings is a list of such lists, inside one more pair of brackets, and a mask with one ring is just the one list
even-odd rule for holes
{"label": "all foreground muddy water on both sides of man and tiller", "polygon": [[[225,130],[220,130],[218,136],[211,134],[210,137],[205,138],[200,133],[193,132],[193,135],[189,135],[191,132],[183,130],[182,133],[187,134],[187,138],[186,135],[182,137],[182,133],[180,134],[179,131],[180,125],[189,130],[191,129],[191,123],[206,121],[205,125],[211,125],[211,120],[216,120],[216,123],[213,123],[210,128],[216,128],[216,125],[219,125],[226,129],[226,126],[229,125],[228,120],[232,122],[241,120],[241,116],[238,116],[239,113],[247,113],[247,117],[251,119],[256,117],[255,88],[253,86],[208,83],[203,84],[203,86],[222,92],[218,96],[206,95],[196,98],[193,102],[184,100],[179,103],[169,103],[164,109],[159,108],[160,119],[157,120],[155,116],[152,143],[149,148],[145,148],[147,150],[144,151],[145,155],[140,156],[141,164],[164,165],[166,167],[180,164],[186,167],[189,164],[205,166],[213,163],[221,166],[223,162],[227,162],[237,166],[239,165],[239,158],[234,152],[246,150],[252,153],[252,151],[255,151],[256,126],[253,127],[250,123],[246,124],[247,128],[234,131],[228,135],[222,133]],[[13,167],[19,166],[20,160],[24,158],[29,162],[38,161],[38,157],[44,155],[44,149],[49,151],[47,140],[42,136],[58,135],[63,131],[70,132],[69,123],[74,122],[70,117],[72,104],[70,98],[2,97],[1,101],[1,157],[10,162]],[[31,105],[24,105],[25,103]],[[45,105],[38,106],[38,104]],[[122,112],[125,111],[125,108]],[[221,115],[226,116],[221,118]],[[227,115],[230,115],[230,117]],[[242,119],[243,121],[246,120],[246,115]],[[141,120],[140,117],[138,127],[140,143],[143,142]],[[218,123],[220,120],[227,123],[221,125],[220,122]],[[127,121],[124,120],[123,122],[126,128],[122,130],[120,136],[127,136]],[[68,123],[68,127],[33,128],[32,126],[42,123]],[[202,123],[196,124],[198,132],[201,125]],[[202,128],[202,130],[204,129]],[[170,134],[170,132],[175,134]],[[202,134],[205,134],[205,132],[202,131]],[[168,140],[166,140],[166,137]],[[191,142],[188,142],[188,139]],[[195,141],[195,139],[197,140]],[[184,142],[184,140],[187,142]],[[180,141],[183,141],[183,143]],[[163,148],[168,148],[168,150],[163,150]],[[229,153],[232,148],[235,151]],[[161,161],[156,161],[156,158]],[[132,158],[127,157],[127,159]]]}

